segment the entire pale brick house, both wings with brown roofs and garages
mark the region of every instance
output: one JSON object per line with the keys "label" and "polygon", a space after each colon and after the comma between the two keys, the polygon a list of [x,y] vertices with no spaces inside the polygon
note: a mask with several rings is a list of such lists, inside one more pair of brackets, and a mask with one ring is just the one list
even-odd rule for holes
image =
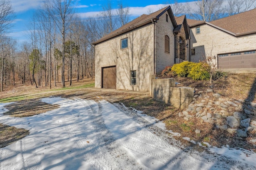
{"label": "entire pale brick house, both wings with brown roofs and garages", "polygon": [[206,22],[170,6],[95,41],[95,87],[148,91],[150,75],[211,56],[218,68],[256,68],[256,9]]}

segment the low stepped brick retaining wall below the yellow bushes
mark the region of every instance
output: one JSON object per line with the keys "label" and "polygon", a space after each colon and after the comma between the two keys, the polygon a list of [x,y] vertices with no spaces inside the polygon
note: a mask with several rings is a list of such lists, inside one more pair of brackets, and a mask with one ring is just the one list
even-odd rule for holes
{"label": "low stepped brick retaining wall below the yellow bushes", "polygon": [[151,75],[150,80],[150,96],[155,100],[185,109],[194,99],[194,89],[175,87],[174,78],[156,79]]}

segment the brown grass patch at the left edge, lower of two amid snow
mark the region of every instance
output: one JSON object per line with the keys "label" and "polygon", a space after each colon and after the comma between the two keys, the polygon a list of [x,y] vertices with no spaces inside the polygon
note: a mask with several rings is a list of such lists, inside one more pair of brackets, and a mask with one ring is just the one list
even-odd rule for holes
{"label": "brown grass patch at the left edge, lower of two amid snow", "polygon": [[18,129],[0,123],[0,148],[6,147],[27,135],[29,135],[29,131],[26,129]]}

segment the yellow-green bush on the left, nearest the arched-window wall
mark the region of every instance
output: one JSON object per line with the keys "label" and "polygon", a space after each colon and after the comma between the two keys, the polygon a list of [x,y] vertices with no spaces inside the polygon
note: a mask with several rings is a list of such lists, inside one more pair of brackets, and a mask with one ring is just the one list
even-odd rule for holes
{"label": "yellow-green bush on the left, nearest the arched-window wall", "polygon": [[192,67],[194,67],[196,63],[184,61],[179,64],[174,64],[172,66],[172,71],[180,77],[187,77]]}

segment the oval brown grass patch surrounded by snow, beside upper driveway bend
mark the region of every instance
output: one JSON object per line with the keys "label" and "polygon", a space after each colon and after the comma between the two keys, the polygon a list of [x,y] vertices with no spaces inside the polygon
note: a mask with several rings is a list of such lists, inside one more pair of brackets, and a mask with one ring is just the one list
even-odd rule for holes
{"label": "oval brown grass patch surrounded by snow, beside upper driveway bend", "polygon": [[8,109],[4,115],[10,115],[12,117],[28,117],[45,113],[53,109],[59,108],[59,105],[52,105],[42,102],[39,99],[22,100],[13,104],[4,106]]}

